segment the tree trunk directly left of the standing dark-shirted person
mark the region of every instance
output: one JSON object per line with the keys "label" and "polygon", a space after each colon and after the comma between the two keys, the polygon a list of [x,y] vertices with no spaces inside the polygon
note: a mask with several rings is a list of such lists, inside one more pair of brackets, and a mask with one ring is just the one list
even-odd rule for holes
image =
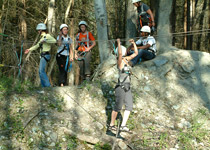
{"label": "tree trunk directly left of the standing dark-shirted person", "polygon": [[[131,0],[128,0],[127,3],[127,20],[126,20],[126,39],[136,37],[136,22],[137,22],[137,11],[136,7],[132,4]],[[129,42],[127,42],[129,45]]]}

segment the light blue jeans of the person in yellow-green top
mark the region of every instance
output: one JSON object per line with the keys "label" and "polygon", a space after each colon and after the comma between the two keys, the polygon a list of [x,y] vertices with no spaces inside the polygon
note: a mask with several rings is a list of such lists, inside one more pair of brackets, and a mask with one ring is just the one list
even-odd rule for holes
{"label": "light blue jeans of the person in yellow-green top", "polygon": [[[50,60],[50,55],[45,55],[45,58],[47,60]],[[39,77],[41,81],[42,87],[50,87],[50,81],[47,77],[47,74],[45,72],[45,68],[47,65],[47,61],[45,60],[44,57],[41,57],[40,63],[39,63]]]}

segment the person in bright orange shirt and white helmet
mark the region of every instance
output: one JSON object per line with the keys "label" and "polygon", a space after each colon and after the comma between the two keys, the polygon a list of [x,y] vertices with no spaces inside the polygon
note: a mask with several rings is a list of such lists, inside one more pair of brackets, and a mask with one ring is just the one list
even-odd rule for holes
{"label": "person in bright orange shirt and white helmet", "polygon": [[90,79],[91,49],[96,45],[93,34],[87,31],[87,26],[88,25],[85,21],[80,21],[79,33],[76,36],[77,51],[75,58],[79,58],[78,64],[82,80]]}

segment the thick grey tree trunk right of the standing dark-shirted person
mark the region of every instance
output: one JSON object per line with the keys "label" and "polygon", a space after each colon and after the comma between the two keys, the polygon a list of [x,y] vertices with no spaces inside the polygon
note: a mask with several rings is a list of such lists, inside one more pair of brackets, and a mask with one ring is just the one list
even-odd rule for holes
{"label": "thick grey tree trunk right of the standing dark-shirted person", "polygon": [[170,14],[172,11],[173,0],[159,1],[159,20],[158,20],[158,53],[164,53],[172,46],[172,36],[170,32]]}

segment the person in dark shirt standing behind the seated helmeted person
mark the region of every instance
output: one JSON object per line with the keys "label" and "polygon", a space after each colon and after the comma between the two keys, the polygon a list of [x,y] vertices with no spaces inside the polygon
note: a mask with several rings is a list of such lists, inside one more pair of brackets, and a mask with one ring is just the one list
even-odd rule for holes
{"label": "person in dark shirt standing behind the seated helmeted person", "polygon": [[137,7],[138,11],[138,30],[140,31],[144,25],[153,27],[152,29],[154,30],[155,20],[149,6],[141,2],[141,0],[132,0],[132,3]]}

